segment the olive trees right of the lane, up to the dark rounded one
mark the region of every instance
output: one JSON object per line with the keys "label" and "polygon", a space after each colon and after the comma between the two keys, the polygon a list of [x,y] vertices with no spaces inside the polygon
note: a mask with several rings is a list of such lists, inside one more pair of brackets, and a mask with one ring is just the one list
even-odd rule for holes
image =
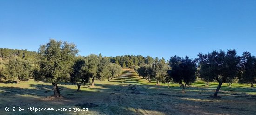
{"label": "olive trees right of the lane, up to the dark rounded one", "polygon": [[151,82],[151,79],[155,79],[157,81],[157,85],[159,81],[162,83],[169,83],[171,81],[175,83],[179,83],[183,89],[187,85],[190,85],[196,80],[196,60],[189,59],[189,57],[181,58],[179,56],[171,57],[169,63],[166,63],[165,60],[160,59],[153,64],[147,64],[141,67],[136,67],[135,72],[146,78]]}

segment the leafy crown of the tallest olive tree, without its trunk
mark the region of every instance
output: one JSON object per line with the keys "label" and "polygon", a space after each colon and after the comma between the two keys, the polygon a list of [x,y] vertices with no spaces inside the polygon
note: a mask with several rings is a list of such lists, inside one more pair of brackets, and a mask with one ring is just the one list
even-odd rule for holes
{"label": "leafy crown of the tallest olive tree, without its trunk", "polygon": [[50,39],[38,50],[41,75],[35,76],[35,80],[46,79],[51,83],[69,81],[72,64],[77,53],[78,50],[74,44]]}

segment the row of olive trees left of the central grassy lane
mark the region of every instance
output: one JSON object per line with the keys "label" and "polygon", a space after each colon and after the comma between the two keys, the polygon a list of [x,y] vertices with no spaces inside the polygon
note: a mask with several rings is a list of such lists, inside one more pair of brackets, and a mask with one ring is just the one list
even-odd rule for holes
{"label": "row of olive trees left of the central grassy lane", "polygon": [[86,57],[76,56],[76,45],[51,39],[47,44],[41,45],[36,61],[31,64],[25,57],[13,58],[0,69],[0,77],[7,80],[27,80],[33,77],[36,81],[52,83],[54,97],[61,97],[58,83],[71,82],[78,86],[87,84],[92,79],[112,79],[121,74],[121,66],[111,63],[110,57],[91,54]]}

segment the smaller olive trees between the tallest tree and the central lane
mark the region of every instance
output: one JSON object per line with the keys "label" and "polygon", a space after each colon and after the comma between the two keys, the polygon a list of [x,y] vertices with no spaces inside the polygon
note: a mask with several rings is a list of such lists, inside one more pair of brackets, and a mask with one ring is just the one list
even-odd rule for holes
{"label": "smaller olive trees between the tallest tree and the central lane", "polygon": [[86,57],[76,57],[73,72],[71,74],[71,83],[77,85],[77,91],[80,91],[82,83],[86,84],[92,79],[91,85],[94,86],[94,78],[100,79],[112,79],[113,77],[121,74],[121,66],[110,63],[108,57],[98,57],[91,54]]}

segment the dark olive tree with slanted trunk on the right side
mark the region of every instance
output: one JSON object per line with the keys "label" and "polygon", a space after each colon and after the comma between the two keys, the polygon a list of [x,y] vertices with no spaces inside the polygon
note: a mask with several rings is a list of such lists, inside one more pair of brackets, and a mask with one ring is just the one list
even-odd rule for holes
{"label": "dark olive tree with slanted trunk on the right side", "polygon": [[208,54],[199,53],[199,66],[209,66],[206,69],[209,78],[216,80],[219,85],[214,93],[213,98],[218,97],[217,94],[222,86],[222,83],[226,83],[227,80],[233,80],[237,77],[239,72],[240,57],[237,55],[236,50],[228,50],[227,53],[220,50],[212,51]]}

